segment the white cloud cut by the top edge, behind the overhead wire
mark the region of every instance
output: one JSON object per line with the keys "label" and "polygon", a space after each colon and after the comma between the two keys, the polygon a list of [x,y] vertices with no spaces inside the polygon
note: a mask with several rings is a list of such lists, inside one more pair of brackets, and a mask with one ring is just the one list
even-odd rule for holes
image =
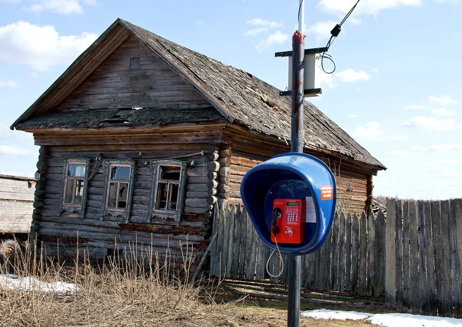
{"label": "white cloud cut by the top edge, behind the overhead wire", "polygon": [[[354,15],[376,15],[383,9],[396,8],[399,6],[420,6],[422,0],[368,0],[360,1],[356,6]],[[336,15],[344,15],[356,3],[356,0],[320,0],[322,10]]]}

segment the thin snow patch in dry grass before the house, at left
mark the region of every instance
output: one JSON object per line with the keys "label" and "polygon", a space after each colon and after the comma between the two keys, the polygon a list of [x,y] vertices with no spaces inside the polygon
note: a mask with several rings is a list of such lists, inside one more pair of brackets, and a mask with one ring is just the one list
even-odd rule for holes
{"label": "thin snow patch in dry grass before the house, at left", "polygon": [[54,293],[75,293],[79,288],[72,283],[65,282],[42,282],[36,277],[21,277],[12,274],[0,274],[0,288],[7,288],[14,291],[54,292]]}

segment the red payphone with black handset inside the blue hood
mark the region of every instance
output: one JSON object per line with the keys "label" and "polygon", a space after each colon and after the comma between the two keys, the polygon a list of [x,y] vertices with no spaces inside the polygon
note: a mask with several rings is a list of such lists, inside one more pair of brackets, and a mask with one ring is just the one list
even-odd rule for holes
{"label": "red payphone with black handset inside the blue hood", "polygon": [[305,222],[305,200],[274,199],[271,241],[277,240],[278,244],[301,244],[305,238]]}

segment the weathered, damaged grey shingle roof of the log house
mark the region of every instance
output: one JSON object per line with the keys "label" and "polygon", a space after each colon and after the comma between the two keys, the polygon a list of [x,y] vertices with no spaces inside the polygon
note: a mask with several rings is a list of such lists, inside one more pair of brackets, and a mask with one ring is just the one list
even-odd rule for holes
{"label": "weathered, damaged grey shingle roof of the log house", "polygon": [[[150,48],[166,65],[183,75],[198,92],[210,101],[217,113],[221,114],[221,117],[224,116],[230,121],[240,123],[251,130],[287,141],[290,140],[291,99],[290,97],[280,97],[277,88],[250,73],[208,58],[122,19],[117,19],[108,31],[116,27],[120,28],[120,26]],[[108,31],[104,34],[108,33]],[[104,41],[103,35],[95,41],[95,44]],[[88,53],[90,55],[91,51]],[[76,69],[77,64],[74,63],[73,65],[71,66],[72,69]],[[67,71],[61,77],[65,77],[66,73]],[[37,100],[37,102],[39,101],[40,99]],[[35,106],[39,105],[37,102],[34,103]],[[33,109],[32,106],[29,110],[31,109]],[[31,112],[28,111],[13,124],[13,127],[26,128],[26,125],[32,122],[34,118],[26,121],[31,117]],[[144,111],[144,114],[149,116],[153,112]],[[166,114],[166,112],[164,111],[162,114]],[[105,115],[103,113],[92,114]],[[204,113],[205,116],[208,114],[209,112]],[[333,151],[378,169],[385,169],[382,163],[308,101],[305,101],[304,114],[304,141],[306,147]],[[36,119],[38,120],[35,122],[37,124],[43,120],[54,121],[55,118],[45,115],[36,117]],[[82,117],[83,121],[87,119],[87,117]],[[148,121],[150,118],[146,119]],[[153,118],[153,122],[155,119]],[[131,124],[135,122],[137,122],[136,119],[130,121]],[[45,124],[45,122],[43,123]],[[73,127],[76,127],[76,125],[73,125]]]}

